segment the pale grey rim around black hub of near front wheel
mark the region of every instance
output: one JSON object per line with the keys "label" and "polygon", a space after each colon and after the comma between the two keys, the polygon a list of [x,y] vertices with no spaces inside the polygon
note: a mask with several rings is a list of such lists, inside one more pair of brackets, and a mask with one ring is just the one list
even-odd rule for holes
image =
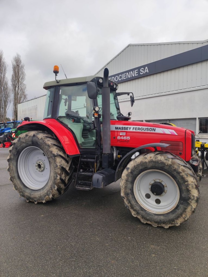
{"label": "pale grey rim around black hub of near front wheel", "polygon": [[[151,185],[153,181],[158,180],[165,186],[164,192],[161,195],[154,195]],[[180,192],[177,183],[169,174],[161,170],[142,172],[137,176],[133,190],[140,206],[154,214],[166,214],[172,211],[179,202]]]}

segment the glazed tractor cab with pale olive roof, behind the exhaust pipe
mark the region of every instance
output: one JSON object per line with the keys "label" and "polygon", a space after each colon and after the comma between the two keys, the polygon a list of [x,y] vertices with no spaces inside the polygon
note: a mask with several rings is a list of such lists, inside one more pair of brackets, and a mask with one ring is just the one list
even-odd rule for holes
{"label": "glazed tractor cab with pale olive roof, behind the exhaust pipe", "polygon": [[[110,120],[119,120],[123,116],[116,93],[118,85],[109,80],[108,86]],[[103,122],[103,78],[89,76],[56,80],[45,83],[44,88],[47,89],[44,119],[55,118],[70,129],[79,148],[96,149]]]}

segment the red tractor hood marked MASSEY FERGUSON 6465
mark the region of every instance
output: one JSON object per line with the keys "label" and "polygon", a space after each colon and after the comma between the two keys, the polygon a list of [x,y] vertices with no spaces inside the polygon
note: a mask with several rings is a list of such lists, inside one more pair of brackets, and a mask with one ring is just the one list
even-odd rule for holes
{"label": "red tractor hood marked MASSEY FERGUSON 6465", "polygon": [[[171,151],[185,159],[191,157],[194,132],[185,128],[171,125],[111,120],[111,146],[140,147],[148,143],[167,143],[165,151]],[[186,152],[185,153],[185,143]],[[162,150],[162,149],[161,149]]]}

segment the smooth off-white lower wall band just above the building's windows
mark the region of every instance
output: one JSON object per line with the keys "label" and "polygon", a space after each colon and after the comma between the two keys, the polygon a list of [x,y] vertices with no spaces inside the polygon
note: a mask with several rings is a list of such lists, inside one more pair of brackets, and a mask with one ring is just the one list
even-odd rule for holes
{"label": "smooth off-white lower wall band just above the building's windows", "polygon": [[174,93],[158,97],[121,101],[120,109],[124,115],[132,111],[132,120],[161,120],[177,118],[208,117],[207,89]]}

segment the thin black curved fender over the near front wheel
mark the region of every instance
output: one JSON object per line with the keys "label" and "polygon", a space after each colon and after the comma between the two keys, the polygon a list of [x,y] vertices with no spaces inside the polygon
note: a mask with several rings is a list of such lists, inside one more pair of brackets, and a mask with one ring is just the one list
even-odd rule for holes
{"label": "thin black curved fender over the near front wheel", "polygon": [[156,147],[167,147],[169,146],[169,144],[167,143],[149,143],[149,144],[145,144],[145,145],[142,145],[140,147],[137,147],[133,150],[131,150],[130,152],[128,152],[123,158],[122,160],[120,160],[120,163],[118,164],[117,166],[117,169],[116,169],[116,174],[115,174],[115,182],[121,178],[121,175],[122,175],[122,172],[123,170],[125,169],[125,167],[127,166],[128,164],[128,161],[130,160],[130,158],[136,153],[136,152],[139,152],[139,150],[141,149],[145,149],[145,148],[150,148],[153,147],[155,148],[156,150]]}

